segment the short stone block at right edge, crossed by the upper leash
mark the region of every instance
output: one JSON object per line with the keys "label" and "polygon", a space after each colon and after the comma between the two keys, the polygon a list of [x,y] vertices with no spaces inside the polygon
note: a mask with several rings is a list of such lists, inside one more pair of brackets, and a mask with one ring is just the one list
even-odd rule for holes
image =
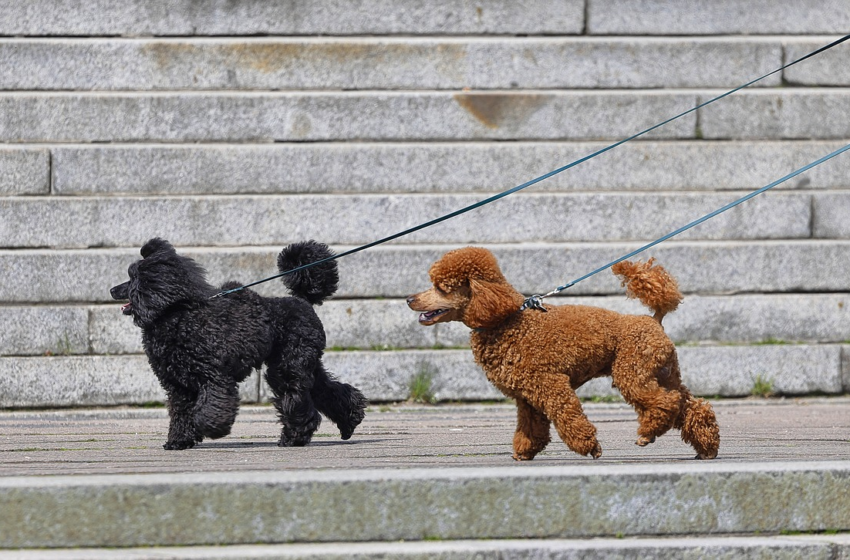
{"label": "short stone block at right edge, crossed by the upper leash", "polygon": [[[832,38],[789,39],[783,41],[785,60],[797,60],[832,42]],[[783,78],[793,85],[850,86],[847,53],[850,46],[842,45],[820,53],[783,71]]]}

